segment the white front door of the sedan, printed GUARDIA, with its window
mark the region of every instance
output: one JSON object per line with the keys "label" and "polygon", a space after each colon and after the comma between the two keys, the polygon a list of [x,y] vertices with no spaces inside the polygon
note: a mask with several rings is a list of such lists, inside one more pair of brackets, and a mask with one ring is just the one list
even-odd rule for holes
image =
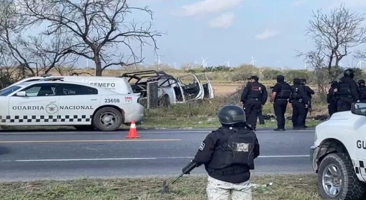
{"label": "white front door of the sedan, printed GUARDIA, with its window", "polygon": [[37,83],[21,91],[25,91],[25,97],[15,94],[9,98],[9,116],[6,122],[12,125],[57,124],[59,96],[56,84]]}

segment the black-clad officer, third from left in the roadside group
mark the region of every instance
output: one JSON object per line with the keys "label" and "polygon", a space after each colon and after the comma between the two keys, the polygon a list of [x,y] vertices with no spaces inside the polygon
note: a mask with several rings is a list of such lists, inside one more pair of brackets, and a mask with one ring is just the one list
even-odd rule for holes
{"label": "black-clad officer, third from left in the roadside group", "polygon": [[292,107],[292,126],[294,129],[305,128],[305,109],[309,106],[309,98],[300,79],[294,79],[291,86],[290,107]]}

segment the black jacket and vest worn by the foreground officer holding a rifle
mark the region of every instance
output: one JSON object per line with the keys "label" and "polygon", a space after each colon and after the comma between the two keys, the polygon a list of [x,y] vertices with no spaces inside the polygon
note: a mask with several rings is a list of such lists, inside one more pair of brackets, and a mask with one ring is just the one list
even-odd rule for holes
{"label": "black jacket and vest worn by the foreground officer holding a rifle", "polygon": [[258,156],[259,143],[253,131],[244,125],[224,125],[207,135],[192,161],[204,164],[214,179],[240,183],[250,179],[249,170],[254,169]]}

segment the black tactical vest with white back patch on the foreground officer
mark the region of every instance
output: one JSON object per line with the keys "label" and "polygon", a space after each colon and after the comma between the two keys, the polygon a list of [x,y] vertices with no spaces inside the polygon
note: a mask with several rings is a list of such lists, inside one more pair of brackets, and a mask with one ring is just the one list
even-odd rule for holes
{"label": "black tactical vest with white back patch on the foreground officer", "polygon": [[[221,132],[218,133],[218,132]],[[219,144],[212,154],[212,160],[207,165],[211,169],[223,169],[233,164],[248,165],[254,169],[254,145],[256,135],[244,128],[219,129],[215,132]]]}

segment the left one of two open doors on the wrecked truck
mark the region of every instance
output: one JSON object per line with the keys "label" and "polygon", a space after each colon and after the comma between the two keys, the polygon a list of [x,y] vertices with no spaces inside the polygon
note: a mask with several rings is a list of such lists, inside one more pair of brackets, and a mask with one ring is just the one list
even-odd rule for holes
{"label": "left one of two open doors on the wrecked truck", "polygon": [[183,87],[183,92],[186,100],[203,99],[203,85],[195,74],[188,74],[178,77],[178,81]]}

